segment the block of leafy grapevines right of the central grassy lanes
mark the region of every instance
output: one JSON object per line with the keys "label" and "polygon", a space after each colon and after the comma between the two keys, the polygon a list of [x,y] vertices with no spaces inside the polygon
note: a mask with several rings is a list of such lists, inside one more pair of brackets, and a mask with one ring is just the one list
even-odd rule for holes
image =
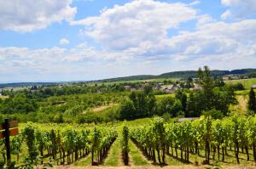
{"label": "block of leafy grapevines right of the central grassy lanes", "polygon": [[[256,162],[256,117],[230,116],[223,120],[212,120],[201,116],[195,121],[165,123],[155,117],[147,126],[131,132],[131,139],[143,150],[149,160],[166,163],[166,155],[190,162],[189,156],[203,156],[204,163],[225,161],[229,156],[239,164],[240,154],[247,161]],[[198,164],[195,158],[195,164]]]}

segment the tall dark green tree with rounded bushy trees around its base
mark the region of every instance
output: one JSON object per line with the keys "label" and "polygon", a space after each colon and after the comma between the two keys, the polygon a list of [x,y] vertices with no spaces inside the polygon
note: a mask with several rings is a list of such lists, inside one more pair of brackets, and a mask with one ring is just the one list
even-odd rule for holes
{"label": "tall dark green tree with rounded bushy trees around its base", "polygon": [[203,110],[212,109],[220,110],[227,115],[230,104],[236,102],[233,88],[227,85],[215,87],[207,66],[204,70],[198,70],[198,76],[202,90],[190,93],[187,103],[189,116],[199,116]]}

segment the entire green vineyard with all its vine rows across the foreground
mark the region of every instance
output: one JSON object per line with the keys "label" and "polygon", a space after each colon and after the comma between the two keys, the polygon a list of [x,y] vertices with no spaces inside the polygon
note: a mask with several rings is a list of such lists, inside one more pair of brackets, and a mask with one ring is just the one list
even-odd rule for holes
{"label": "entire green vineyard with all its vine rows across the foreground", "polygon": [[[141,126],[130,124],[127,121],[113,127],[86,128],[27,123],[18,136],[11,137],[12,161],[20,167],[77,166],[84,160],[89,161],[85,166],[105,166],[115,149],[121,156],[121,165],[136,165],[143,161],[143,156],[148,161],[145,164],[157,166],[172,165],[173,161],[213,166],[218,163],[251,166],[256,162],[256,117],[234,115],[213,120],[201,116],[180,123],[154,117]],[[3,140],[1,150],[3,166],[6,164]]]}

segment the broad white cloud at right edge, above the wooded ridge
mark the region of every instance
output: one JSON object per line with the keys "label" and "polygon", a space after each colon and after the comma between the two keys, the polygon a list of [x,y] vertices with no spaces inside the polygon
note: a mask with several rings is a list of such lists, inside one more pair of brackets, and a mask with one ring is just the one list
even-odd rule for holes
{"label": "broad white cloud at right edge, above the wooded ridge", "polygon": [[206,63],[225,60],[237,65],[241,59],[256,61],[255,29],[256,20],[241,20],[235,23],[212,21],[198,25],[195,31],[172,37],[167,44],[172,58],[177,60],[201,59]]}

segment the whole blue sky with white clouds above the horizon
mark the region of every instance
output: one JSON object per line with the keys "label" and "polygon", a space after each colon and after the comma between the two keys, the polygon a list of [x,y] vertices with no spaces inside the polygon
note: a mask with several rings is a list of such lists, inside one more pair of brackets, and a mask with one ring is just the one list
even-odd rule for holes
{"label": "whole blue sky with white clouds above the horizon", "polygon": [[0,82],[255,68],[254,0],[0,0]]}

